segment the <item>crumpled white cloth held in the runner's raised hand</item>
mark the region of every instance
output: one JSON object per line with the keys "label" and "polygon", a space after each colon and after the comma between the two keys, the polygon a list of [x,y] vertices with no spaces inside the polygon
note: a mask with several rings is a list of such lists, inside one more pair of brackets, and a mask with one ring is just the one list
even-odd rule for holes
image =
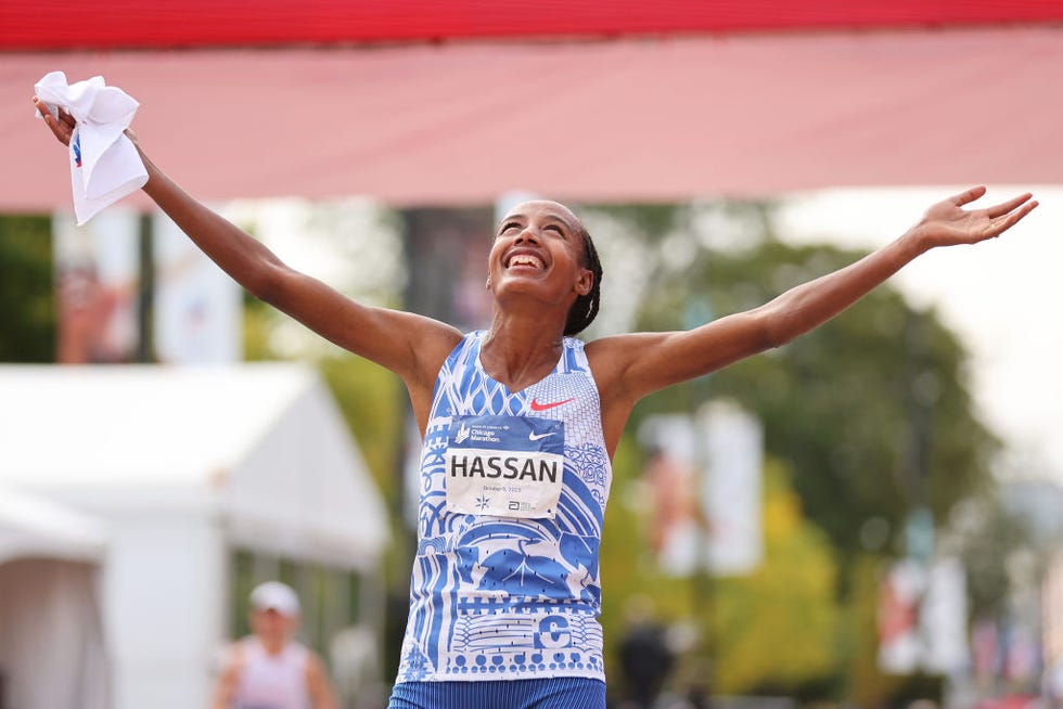
{"label": "crumpled white cloth held in the runner's raised hand", "polygon": [[132,96],[107,86],[102,76],[68,85],[63,72],[44,75],[34,90],[53,116],[57,118],[59,108],[63,108],[77,121],[69,159],[74,215],[79,227],[144,186],[144,162],[124,134],[140,107]]}

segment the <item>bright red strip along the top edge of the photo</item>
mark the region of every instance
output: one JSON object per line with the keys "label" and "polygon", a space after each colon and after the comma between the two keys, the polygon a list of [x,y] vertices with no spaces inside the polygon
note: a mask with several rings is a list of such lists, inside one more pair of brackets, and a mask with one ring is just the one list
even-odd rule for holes
{"label": "bright red strip along the top edge of the photo", "polygon": [[1058,22],[1060,0],[4,0],[0,50]]}

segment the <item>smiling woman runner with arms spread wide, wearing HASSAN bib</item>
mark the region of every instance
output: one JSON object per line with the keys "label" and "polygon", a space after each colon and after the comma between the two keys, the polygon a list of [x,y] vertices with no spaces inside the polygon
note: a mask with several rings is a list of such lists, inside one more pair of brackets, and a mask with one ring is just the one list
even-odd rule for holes
{"label": "smiling woman runner with arms spread wide, wearing HASSAN bib", "polygon": [[[44,113],[68,144],[75,124]],[[527,202],[487,263],[490,326],[462,334],[355,302],[299,273],[188,195],[140,150],[143,190],[252,294],[406,383],[423,436],[410,619],[390,706],[605,706],[599,544],[612,456],[632,407],[834,317],[936,246],[999,236],[1023,194],[933,205],[896,241],[770,302],[686,332],[573,337],[602,268],[579,218]]]}

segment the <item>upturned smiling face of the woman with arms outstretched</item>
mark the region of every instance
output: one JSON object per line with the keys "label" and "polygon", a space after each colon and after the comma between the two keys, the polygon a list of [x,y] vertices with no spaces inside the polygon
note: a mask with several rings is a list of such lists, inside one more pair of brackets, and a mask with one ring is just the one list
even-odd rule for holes
{"label": "upturned smiling face of the woman with arms outstretched", "polygon": [[593,285],[593,274],[584,268],[584,248],[581,225],[567,207],[525,202],[499,222],[488,287],[499,301],[524,294],[572,305]]}

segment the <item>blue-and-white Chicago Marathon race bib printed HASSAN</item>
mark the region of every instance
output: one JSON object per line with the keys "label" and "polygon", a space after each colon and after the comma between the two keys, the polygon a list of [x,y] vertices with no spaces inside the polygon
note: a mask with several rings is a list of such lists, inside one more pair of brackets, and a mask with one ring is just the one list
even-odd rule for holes
{"label": "blue-and-white Chicago Marathon race bib printed HASSAN", "polygon": [[549,518],[565,467],[563,421],[454,416],[447,444],[447,511]]}

